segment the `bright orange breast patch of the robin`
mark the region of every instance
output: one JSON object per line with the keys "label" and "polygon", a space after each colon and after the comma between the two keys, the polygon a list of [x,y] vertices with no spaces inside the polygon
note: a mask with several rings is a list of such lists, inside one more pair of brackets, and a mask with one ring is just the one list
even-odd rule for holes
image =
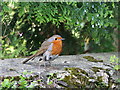
{"label": "bright orange breast patch of the robin", "polygon": [[56,40],[53,42],[53,47],[52,47],[52,55],[59,55],[62,51],[62,41],[61,40]]}

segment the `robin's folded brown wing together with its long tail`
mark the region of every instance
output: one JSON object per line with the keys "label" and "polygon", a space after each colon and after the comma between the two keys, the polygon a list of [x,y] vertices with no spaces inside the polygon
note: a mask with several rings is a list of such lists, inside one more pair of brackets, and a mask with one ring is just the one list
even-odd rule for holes
{"label": "robin's folded brown wing together with its long tail", "polygon": [[25,61],[23,61],[23,64],[25,64],[26,62],[28,62],[30,59],[34,59],[36,56],[38,56],[40,54],[43,54],[48,49],[48,47],[50,46],[50,44],[51,44],[51,42],[44,41],[41,44],[40,49],[34,55],[31,55],[30,57],[28,57],[28,59],[26,59]]}

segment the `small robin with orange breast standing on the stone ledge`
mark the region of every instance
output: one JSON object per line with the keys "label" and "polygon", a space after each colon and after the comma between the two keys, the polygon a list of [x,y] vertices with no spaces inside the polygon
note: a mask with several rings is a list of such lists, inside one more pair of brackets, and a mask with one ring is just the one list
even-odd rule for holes
{"label": "small robin with orange breast standing on the stone ledge", "polygon": [[62,51],[62,40],[64,40],[64,38],[60,35],[53,35],[41,44],[41,47],[36,54],[23,61],[23,64],[41,54],[43,54],[43,60],[45,61],[57,58]]}

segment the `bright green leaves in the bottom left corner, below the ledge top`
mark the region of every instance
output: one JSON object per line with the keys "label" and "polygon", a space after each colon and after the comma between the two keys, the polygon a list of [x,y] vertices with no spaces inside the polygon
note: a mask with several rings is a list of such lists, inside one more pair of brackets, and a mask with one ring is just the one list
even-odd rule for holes
{"label": "bright green leaves in the bottom left corner, below the ledge top", "polygon": [[[31,72],[30,72],[31,73]],[[29,82],[28,78],[26,77],[27,74],[30,74],[29,72],[23,72],[23,75],[19,76],[19,80],[15,80],[14,77],[11,79],[4,79],[4,81],[1,83],[0,89],[27,89],[27,88],[34,88],[37,85],[37,82]]]}

